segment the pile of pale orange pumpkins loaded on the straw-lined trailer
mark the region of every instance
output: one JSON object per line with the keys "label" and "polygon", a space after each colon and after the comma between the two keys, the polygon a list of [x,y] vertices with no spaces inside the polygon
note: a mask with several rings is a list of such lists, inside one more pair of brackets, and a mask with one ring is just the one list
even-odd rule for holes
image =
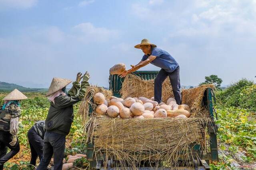
{"label": "pile of pale orange pumpkins loaded on the straw-lined trailer", "polygon": [[128,118],[154,118],[154,117],[190,117],[190,107],[186,104],[178,105],[174,98],[169,98],[166,102],[154,101],[151,99],[139,97],[126,99],[111,96],[110,100],[105,99],[104,94],[98,92],[93,96],[95,109],[99,115],[108,115],[109,117]]}

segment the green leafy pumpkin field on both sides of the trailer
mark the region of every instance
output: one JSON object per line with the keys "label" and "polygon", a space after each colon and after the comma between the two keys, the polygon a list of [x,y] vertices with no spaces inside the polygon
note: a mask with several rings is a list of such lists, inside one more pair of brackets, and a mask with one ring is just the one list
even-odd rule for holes
{"label": "green leafy pumpkin field on both sides of the trailer", "polygon": [[[0,93],[2,98],[7,93]],[[50,103],[44,93],[25,92],[27,100],[21,102],[22,113],[19,122],[18,138],[20,152],[9,160],[4,167],[11,170],[29,170],[30,147],[27,132],[35,121],[46,118]],[[255,169],[256,168],[256,84],[242,79],[231,84],[226,90],[215,90],[218,120],[219,162],[211,162],[213,170]],[[66,137],[65,156],[86,154],[84,123],[78,114],[80,103],[74,105],[74,122]],[[168,166],[168,165],[165,165]],[[73,169],[88,168],[86,158],[74,162]]]}

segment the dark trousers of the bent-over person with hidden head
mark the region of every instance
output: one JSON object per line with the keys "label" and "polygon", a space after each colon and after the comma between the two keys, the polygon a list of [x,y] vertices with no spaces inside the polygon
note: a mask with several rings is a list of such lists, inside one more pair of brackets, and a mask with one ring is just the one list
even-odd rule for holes
{"label": "dark trousers of the bent-over person with hidden head", "polygon": [[34,127],[28,131],[28,143],[31,151],[30,164],[36,166],[37,157],[39,156],[39,160],[43,158],[44,140],[36,133]]}

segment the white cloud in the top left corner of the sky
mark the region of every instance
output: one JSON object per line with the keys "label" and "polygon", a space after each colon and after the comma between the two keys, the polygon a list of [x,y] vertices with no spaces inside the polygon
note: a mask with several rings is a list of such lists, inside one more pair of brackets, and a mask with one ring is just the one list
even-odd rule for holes
{"label": "white cloud in the top left corner of the sky", "polygon": [[27,9],[35,6],[38,0],[0,0],[0,9],[20,8]]}

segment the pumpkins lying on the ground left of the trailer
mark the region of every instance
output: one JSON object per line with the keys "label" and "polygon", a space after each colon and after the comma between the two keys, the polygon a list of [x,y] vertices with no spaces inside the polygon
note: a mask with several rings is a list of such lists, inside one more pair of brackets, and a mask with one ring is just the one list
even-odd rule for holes
{"label": "pumpkins lying on the ground left of the trailer", "polygon": [[[68,155],[66,158],[63,158],[62,170],[69,170],[69,169],[73,168],[74,162],[80,158],[86,158],[86,154]],[[50,164],[52,164],[52,165],[54,164],[53,158],[51,159]]]}

